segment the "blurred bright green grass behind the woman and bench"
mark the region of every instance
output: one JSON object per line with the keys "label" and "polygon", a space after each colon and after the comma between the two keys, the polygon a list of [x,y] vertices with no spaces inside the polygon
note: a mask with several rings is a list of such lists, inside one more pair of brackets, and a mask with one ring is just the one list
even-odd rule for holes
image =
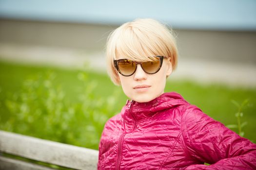
{"label": "blurred bright green grass behind the woman and bench", "polygon": [[[236,106],[243,110],[244,137],[256,141],[256,88],[200,85],[191,81],[167,83],[185,100],[225,125],[236,124]],[[0,129],[72,145],[98,149],[105,121],[117,114],[127,97],[108,76],[89,70],[70,70],[0,62]],[[234,129],[236,131],[236,129]]]}

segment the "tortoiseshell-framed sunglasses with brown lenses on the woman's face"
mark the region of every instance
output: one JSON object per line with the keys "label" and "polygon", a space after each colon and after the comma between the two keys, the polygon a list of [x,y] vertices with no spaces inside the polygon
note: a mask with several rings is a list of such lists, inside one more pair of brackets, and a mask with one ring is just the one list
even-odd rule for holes
{"label": "tortoiseshell-framed sunglasses with brown lenses on the woman's face", "polygon": [[155,56],[152,57],[152,61],[148,62],[135,62],[128,59],[119,59],[114,60],[114,65],[118,72],[126,77],[131,76],[135,73],[138,64],[140,64],[144,72],[148,74],[155,74],[162,67],[163,58],[164,56]]}

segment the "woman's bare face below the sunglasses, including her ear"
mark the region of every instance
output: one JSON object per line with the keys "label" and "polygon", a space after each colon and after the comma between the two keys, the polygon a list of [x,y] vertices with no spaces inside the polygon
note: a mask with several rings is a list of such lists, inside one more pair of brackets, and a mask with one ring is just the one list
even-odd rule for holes
{"label": "woman's bare face below the sunglasses, including her ear", "polygon": [[170,58],[164,58],[162,67],[155,74],[147,74],[137,65],[135,73],[129,77],[118,73],[125,95],[136,102],[149,102],[164,93],[166,76],[172,73]]}

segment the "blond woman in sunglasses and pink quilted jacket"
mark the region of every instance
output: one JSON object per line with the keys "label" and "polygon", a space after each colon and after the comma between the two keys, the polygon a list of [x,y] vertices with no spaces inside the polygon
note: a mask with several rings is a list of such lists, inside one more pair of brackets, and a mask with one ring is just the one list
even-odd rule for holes
{"label": "blond woman in sunglasses and pink quilted jacket", "polygon": [[256,169],[254,143],[178,93],[164,93],[177,66],[175,38],[164,25],[125,23],[110,34],[106,51],[111,80],[131,101],[105,124],[99,170]]}

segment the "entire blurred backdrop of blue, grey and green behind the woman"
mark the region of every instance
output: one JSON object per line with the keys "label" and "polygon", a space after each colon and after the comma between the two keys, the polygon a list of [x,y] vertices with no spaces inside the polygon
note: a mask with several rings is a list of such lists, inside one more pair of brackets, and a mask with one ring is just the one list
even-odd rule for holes
{"label": "entire blurred backdrop of blue, grey and green behind the woman", "polygon": [[127,100],[106,74],[107,37],[149,17],[177,39],[178,66],[165,92],[178,92],[233,127],[232,101],[249,100],[239,115],[244,137],[256,142],[255,6],[255,0],[0,0],[0,130],[98,149],[105,122]]}

